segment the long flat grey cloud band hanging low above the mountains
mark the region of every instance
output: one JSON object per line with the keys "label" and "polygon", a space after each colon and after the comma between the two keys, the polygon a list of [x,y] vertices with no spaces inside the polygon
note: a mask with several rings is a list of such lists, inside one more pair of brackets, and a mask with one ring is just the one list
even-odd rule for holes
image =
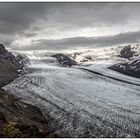
{"label": "long flat grey cloud band hanging low above the mountains", "polygon": [[41,39],[33,42],[32,45],[16,49],[37,50],[37,49],[67,49],[72,47],[94,47],[94,46],[100,47],[126,43],[139,43],[139,41],[140,41],[140,31],[137,31],[137,32],[127,32],[114,36],[104,36],[96,38],[75,37],[59,40]]}

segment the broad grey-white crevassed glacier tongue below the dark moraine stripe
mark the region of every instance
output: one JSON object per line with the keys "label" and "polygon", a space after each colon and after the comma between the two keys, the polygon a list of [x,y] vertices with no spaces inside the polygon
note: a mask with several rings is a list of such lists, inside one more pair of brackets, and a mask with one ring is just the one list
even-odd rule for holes
{"label": "broad grey-white crevassed glacier tongue below the dark moraine stripe", "polygon": [[41,108],[59,137],[140,137],[139,86],[61,67],[50,56],[35,55],[29,67],[31,73],[4,88]]}

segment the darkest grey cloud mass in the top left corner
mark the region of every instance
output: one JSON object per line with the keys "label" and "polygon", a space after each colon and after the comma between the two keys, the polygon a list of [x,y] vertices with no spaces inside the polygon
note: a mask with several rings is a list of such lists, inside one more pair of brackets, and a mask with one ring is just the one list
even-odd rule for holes
{"label": "darkest grey cloud mass in the top left corner", "polygon": [[34,3],[0,3],[0,32],[13,34],[29,28],[38,18],[45,18],[46,6]]}

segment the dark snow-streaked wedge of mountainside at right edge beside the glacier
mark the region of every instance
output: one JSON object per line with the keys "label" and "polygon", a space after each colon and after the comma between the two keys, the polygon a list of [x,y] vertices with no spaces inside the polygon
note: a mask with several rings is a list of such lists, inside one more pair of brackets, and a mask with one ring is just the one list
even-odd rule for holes
{"label": "dark snow-streaked wedge of mountainside at right edge beside the glacier", "polygon": [[115,64],[109,67],[109,69],[140,78],[140,59],[136,59],[127,63]]}

